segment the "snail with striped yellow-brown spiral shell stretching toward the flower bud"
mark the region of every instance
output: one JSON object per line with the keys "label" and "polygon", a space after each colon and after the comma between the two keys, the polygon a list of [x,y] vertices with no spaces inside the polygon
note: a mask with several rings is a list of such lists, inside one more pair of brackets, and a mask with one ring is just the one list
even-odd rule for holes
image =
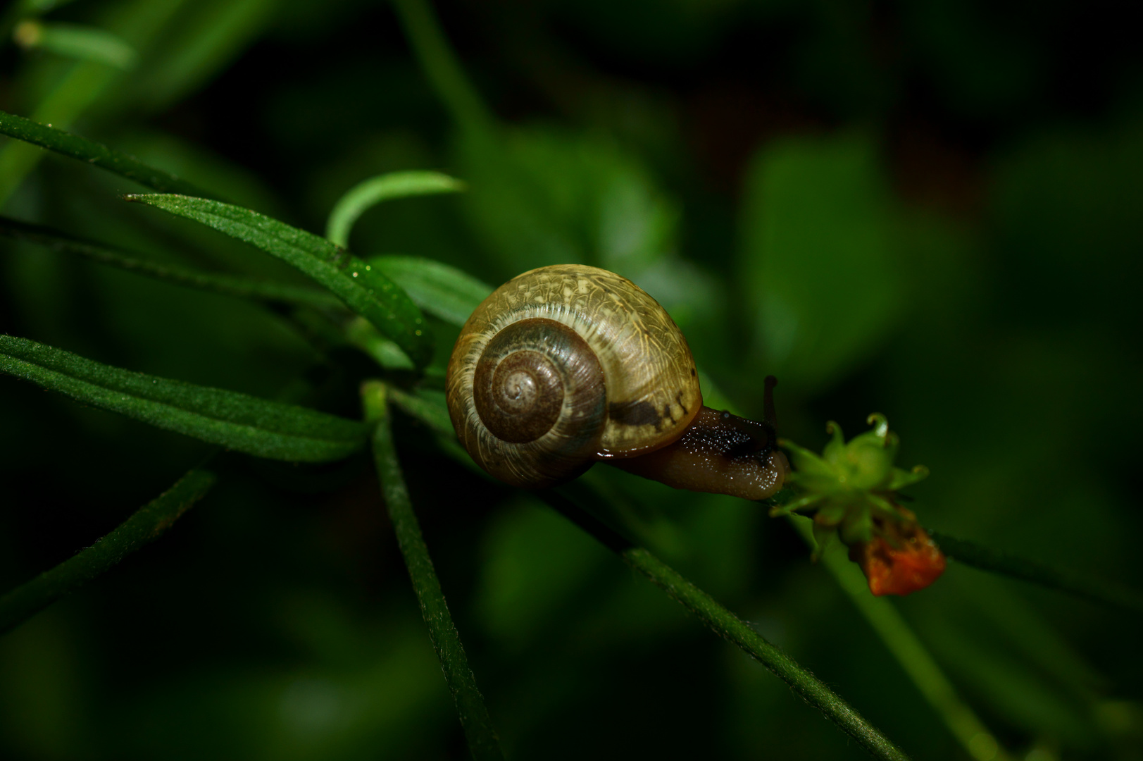
{"label": "snail with striped yellow-brown spiral shell stretching toward the flower bud", "polygon": [[703,406],[682,332],[634,283],[581,264],[520,275],[469,317],[446,374],[461,444],[543,489],[607,462],[677,489],[765,499],[789,471],[766,420]]}

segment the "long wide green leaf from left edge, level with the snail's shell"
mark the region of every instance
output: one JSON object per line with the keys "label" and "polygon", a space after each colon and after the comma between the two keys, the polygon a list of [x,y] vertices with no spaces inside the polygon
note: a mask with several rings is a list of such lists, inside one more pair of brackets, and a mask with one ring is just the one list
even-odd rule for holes
{"label": "long wide green leaf from left edge, level with the snail's shell", "polygon": [[10,335],[0,335],[0,372],[157,428],[274,460],[327,462],[365,444],[365,426],[355,420],[112,367]]}

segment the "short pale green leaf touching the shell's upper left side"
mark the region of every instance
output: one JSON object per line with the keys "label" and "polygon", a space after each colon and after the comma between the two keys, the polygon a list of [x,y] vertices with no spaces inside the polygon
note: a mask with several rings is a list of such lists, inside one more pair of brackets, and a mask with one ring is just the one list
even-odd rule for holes
{"label": "short pale green leaf touching the shell's upper left side", "polygon": [[369,264],[405,288],[424,311],[453,325],[464,325],[493,287],[463,270],[418,256],[373,256]]}

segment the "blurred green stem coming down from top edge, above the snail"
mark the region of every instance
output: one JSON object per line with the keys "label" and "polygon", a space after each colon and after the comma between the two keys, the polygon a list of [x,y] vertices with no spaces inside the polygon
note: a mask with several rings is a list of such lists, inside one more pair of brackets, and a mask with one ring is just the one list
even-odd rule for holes
{"label": "blurred green stem coming down from top edge, above the snail", "polygon": [[490,135],[495,119],[445,39],[429,0],[393,0],[393,7],[430,84],[456,122],[473,136]]}

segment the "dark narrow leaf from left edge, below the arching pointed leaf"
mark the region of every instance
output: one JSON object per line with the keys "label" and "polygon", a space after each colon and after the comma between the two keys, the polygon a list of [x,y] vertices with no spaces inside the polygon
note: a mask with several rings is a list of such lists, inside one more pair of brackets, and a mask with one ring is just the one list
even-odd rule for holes
{"label": "dark narrow leaf from left edge, below the arching pointed leaf", "polygon": [[325,291],[297,287],[267,280],[255,280],[218,272],[206,272],[187,267],[160,264],[136,259],[113,246],[94,240],[73,238],[64,232],[39,224],[29,224],[0,216],[0,235],[47,246],[55,251],[77,254],[101,264],[110,264],[159,280],[184,285],[202,291],[213,291],[230,296],[257,299],[280,303],[310,304],[313,307],[337,307],[341,302]]}

